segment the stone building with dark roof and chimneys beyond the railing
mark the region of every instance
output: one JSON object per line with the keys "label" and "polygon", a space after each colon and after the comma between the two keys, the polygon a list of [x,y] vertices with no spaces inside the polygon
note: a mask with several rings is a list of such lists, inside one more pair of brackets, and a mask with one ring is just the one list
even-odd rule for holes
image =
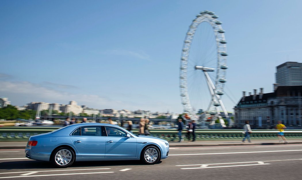
{"label": "stone building with dark roof and chimneys beyond the railing", "polygon": [[278,86],[274,84],[274,92],[263,93],[254,89],[254,93],[243,91],[243,96],[234,107],[234,121],[242,127],[248,120],[252,128],[270,128],[278,120],[286,126],[301,126],[302,86]]}

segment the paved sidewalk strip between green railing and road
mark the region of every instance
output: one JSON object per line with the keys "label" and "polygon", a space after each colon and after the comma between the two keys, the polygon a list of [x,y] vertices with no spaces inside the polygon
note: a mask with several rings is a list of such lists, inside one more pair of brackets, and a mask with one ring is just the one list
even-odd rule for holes
{"label": "paved sidewalk strip between green railing and road", "polygon": [[[0,149],[24,149],[27,141],[2,141],[0,142]],[[247,141],[243,143],[240,140],[224,140],[224,141],[194,141],[194,142],[169,142],[170,147],[201,147],[201,146],[242,146],[242,145],[277,145],[278,139],[274,140],[252,140],[251,143]],[[288,139],[288,144],[302,144],[302,139]]]}

